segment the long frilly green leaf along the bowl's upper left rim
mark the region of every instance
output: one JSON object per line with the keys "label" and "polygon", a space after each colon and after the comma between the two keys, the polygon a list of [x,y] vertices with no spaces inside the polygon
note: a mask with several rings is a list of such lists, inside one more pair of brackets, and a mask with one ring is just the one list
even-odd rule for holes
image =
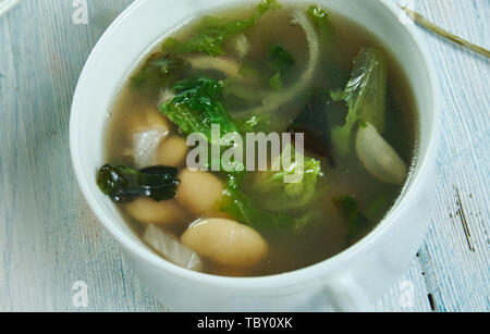
{"label": "long frilly green leaf along the bowl's upper left rim", "polygon": [[163,42],[163,50],[174,54],[208,53],[223,55],[223,44],[231,37],[237,36],[257,25],[258,20],[269,10],[279,9],[277,0],[262,0],[250,17],[226,21],[221,17],[206,16],[199,24],[200,29],[186,41],[168,38]]}

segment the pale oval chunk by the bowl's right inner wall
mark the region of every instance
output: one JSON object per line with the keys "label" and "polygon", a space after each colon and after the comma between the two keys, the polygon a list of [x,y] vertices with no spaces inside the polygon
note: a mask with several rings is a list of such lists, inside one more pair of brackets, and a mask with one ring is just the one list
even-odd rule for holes
{"label": "pale oval chunk by the bowl's right inner wall", "polygon": [[408,168],[373,125],[366,123],[366,126],[359,126],[356,151],[366,170],[376,180],[396,185],[405,181]]}

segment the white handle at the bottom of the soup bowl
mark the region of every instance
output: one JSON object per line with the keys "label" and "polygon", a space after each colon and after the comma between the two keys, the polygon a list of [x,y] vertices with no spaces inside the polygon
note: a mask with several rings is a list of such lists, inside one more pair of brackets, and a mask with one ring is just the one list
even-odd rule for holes
{"label": "white handle at the bottom of the soup bowl", "polygon": [[344,273],[330,281],[327,293],[336,312],[372,312],[369,297],[355,282],[351,273]]}

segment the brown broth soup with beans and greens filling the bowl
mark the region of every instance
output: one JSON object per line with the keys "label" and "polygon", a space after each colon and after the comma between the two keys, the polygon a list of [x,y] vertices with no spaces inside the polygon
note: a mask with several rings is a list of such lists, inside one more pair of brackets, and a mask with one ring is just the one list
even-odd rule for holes
{"label": "brown broth soup with beans and greens filling the bowl", "polygon": [[135,66],[97,182],[177,265],[294,271],[388,213],[415,160],[415,115],[376,37],[328,9],[266,0],[192,20]]}

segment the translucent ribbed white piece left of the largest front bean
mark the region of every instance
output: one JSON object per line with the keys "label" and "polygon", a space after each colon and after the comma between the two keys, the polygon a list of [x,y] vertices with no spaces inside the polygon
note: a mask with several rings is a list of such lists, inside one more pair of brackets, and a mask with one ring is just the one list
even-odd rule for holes
{"label": "translucent ribbed white piece left of the largest front bean", "polygon": [[166,259],[179,267],[194,271],[203,270],[200,257],[161,228],[149,225],[143,235],[143,239]]}

